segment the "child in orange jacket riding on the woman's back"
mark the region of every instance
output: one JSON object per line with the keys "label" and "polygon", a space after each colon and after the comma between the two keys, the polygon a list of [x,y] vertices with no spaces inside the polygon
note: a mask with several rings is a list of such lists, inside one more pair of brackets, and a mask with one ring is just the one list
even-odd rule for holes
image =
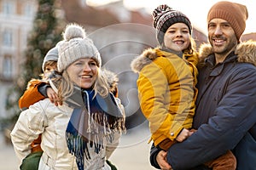
{"label": "child in orange jacket riding on the woman's back", "polygon": [[[44,62],[42,69],[44,73],[41,75],[42,79],[32,79],[27,84],[25,93],[19,99],[20,110],[26,110],[30,105],[38,102],[41,99],[45,99],[47,96],[52,102],[55,102],[55,105],[58,105],[57,94],[49,86],[49,75],[53,71],[57,70],[57,60],[58,60],[58,48],[51,48],[49,52],[44,57]],[[59,102],[61,105],[61,101]],[[43,154],[41,149],[41,135],[38,136],[38,139],[35,139],[32,144],[32,152],[25,159],[22,160],[20,165],[20,170],[35,170],[38,169],[38,164],[40,158]]]}

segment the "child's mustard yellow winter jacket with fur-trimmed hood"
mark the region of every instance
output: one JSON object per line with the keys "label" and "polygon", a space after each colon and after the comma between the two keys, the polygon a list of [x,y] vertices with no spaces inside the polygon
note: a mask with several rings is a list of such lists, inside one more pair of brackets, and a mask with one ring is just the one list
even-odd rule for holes
{"label": "child's mustard yellow winter jacket with fur-trimmed hood", "polygon": [[192,127],[197,62],[198,54],[183,54],[182,59],[160,48],[147,49],[131,62],[132,70],[139,73],[138,98],[155,145]]}

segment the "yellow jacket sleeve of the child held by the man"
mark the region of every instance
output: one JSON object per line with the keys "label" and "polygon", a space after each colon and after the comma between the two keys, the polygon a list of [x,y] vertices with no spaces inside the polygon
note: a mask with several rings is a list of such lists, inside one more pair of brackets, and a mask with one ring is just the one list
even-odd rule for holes
{"label": "yellow jacket sleeve of the child held by the man", "polygon": [[178,116],[170,114],[169,111],[172,97],[168,77],[172,74],[172,64],[164,57],[154,61],[143,67],[139,73],[137,88],[143,115],[148,119],[154,144],[157,145],[162,140],[160,136],[165,139],[176,139],[183,129],[183,124],[176,121]]}

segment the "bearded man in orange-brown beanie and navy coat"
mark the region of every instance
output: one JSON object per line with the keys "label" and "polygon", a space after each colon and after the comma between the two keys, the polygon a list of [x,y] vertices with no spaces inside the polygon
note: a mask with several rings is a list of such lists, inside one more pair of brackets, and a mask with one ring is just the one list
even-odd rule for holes
{"label": "bearded man in orange-brown beanie and navy coat", "polygon": [[256,42],[241,42],[248,17],[239,3],[215,3],[207,15],[208,40],[201,46],[193,127],[167,150],[152,146],[150,162],[161,169],[198,167],[232,150],[237,170],[256,167]]}

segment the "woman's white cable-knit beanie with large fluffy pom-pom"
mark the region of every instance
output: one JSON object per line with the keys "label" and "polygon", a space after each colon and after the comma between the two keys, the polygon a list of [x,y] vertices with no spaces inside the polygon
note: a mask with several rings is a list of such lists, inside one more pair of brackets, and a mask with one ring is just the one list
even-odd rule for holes
{"label": "woman's white cable-knit beanie with large fluffy pom-pom", "polygon": [[61,72],[75,60],[92,58],[96,60],[98,67],[102,65],[101,56],[92,40],[86,37],[84,29],[77,24],[67,25],[63,33],[63,41],[58,51],[58,71]]}

